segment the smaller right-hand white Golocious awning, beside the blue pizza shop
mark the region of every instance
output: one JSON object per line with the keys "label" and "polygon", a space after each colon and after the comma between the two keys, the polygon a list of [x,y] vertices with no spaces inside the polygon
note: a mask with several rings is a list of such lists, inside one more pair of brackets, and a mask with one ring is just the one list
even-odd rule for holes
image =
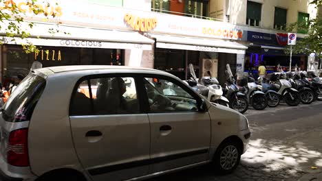
{"label": "smaller right-hand white Golocious awning, beside the blue pizza shop", "polygon": [[186,49],[193,51],[213,51],[237,54],[245,54],[245,50],[247,49],[244,45],[226,40],[168,36],[160,34],[150,34],[150,36],[156,39],[156,47],[162,49]]}

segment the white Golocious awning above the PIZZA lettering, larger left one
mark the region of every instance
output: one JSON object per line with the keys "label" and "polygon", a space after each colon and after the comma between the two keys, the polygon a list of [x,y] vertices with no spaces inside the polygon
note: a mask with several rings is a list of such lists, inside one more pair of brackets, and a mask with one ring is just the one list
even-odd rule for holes
{"label": "white Golocious awning above the PIZZA lettering, larger left one", "polygon": [[[48,29],[58,29],[54,34],[48,33]],[[36,24],[30,32],[30,38],[23,40],[3,37],[7,44],[32,43],[39,46],[53,47],[85,47],[101,49],[142,49],[151,50],[153,40],[142,36],[138,32],[125,32],[109,29],[92,29],[88,27],[69,27]],[[38,38],[39,37],[39,38]]]}

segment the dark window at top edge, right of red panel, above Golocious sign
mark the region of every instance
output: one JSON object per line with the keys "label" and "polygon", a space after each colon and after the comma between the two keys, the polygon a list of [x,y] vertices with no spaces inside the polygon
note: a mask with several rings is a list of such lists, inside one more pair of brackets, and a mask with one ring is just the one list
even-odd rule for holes
{"label": "dark window at top edge, right of red panel, above Golocious sign", "polygon": [[202,18],[208,16],[208,1],[189,0],[184,1],[184,13],[187,16]]}

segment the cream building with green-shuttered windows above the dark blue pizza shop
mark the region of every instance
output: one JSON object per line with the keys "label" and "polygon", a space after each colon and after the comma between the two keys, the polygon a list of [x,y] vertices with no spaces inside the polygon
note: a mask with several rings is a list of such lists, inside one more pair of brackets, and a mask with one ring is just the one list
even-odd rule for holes
{"label": "cream building with green-shuttered windows above the dark blue pizza shop", "polygon": [[[277,64],[288,70],[290,56],[284,53],[288,32],[286,27],[292,23],[307,24],[317,15],[315,5],[309,0],[230,0],[222,8],[228,21],[246,26],[245,56],[246,69],[257,70],[259,62],[264,62],[268,71],[274,71]],[[303,38],[307,29],[298,29],[298,38]],[[316,64],[318,62],[315,62]],[[308,68],[308,55],[293,55],[292,67],[301,70]]]}

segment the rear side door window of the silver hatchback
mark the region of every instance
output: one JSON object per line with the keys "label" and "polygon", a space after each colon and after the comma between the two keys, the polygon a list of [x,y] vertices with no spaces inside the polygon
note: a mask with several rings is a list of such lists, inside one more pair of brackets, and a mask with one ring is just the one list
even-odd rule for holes
{"label": "rear side door window of the silver hatchback", "polygon": [[71,115],[136,113],[140,113],[140,106],[133,77],[85,80],[78,85],[71,104]]}

